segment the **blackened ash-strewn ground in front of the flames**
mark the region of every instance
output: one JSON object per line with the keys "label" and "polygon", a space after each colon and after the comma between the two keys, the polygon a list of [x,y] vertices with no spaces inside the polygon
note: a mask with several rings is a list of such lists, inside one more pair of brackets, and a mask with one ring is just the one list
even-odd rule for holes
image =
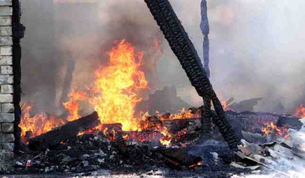
{"label": "blackened ash-strewn ground in front of the flames", "polygon": [[[225,156],[225,143],[211,140],[189,147],[175,146],[200,155],[202,165],[188,168],[174,164],[150,143],[127,142],[128,154],[102,135],[85,134],[46,151],[25,151],[16,156],[15,172],[8,177],[230,177],[248,170],[230,166],[225,159],[214,159],[210,152]],[[170,149],[170,148],[167,148]],[[123,176],[124,175],[124,176]]]}

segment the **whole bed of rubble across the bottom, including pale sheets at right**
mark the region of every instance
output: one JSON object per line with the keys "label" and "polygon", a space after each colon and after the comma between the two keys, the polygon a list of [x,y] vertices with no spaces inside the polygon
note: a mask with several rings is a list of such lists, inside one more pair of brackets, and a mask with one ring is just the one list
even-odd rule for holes
{"label": "whole bed of rubble across the bottom, including pale sheets at right", "polygon": [[[185,131],[184,135],[173,135],[169,146],[156,142],[153,138],[158,138],[158,135],[152,137],[153,131],[125,132],[116,123],[107,125],[112,128],[109,130],[115,130],[117,134],[114,135],[112,132],[104,132],[106,135],[103,132],[84,133],[49,149],[35,151],[25,148],[16,155],[15,172],[76,176],[135,174],[144,177],[228,177],[270,173],[293,177],[302,173],[305,168],[304,147],[300,144],[304,142],[302,129],[289,129],[290,136],[284,139],[246,127],[249,121],[252,125],[260,125],[263,117],[276,122],[276,115],[231,111],[227,114],[230,122],[234,117],[240,118],[239,127],[246,128],[241,131],[243,139],[236,157],[231,155],[216,127],[213,127],[213,135],[208,140],[201,136],[200,118],[162,121],[162,125],[171,132],[179,133],[176,125]],[[254,119],[257,119],[256,123]]]}

